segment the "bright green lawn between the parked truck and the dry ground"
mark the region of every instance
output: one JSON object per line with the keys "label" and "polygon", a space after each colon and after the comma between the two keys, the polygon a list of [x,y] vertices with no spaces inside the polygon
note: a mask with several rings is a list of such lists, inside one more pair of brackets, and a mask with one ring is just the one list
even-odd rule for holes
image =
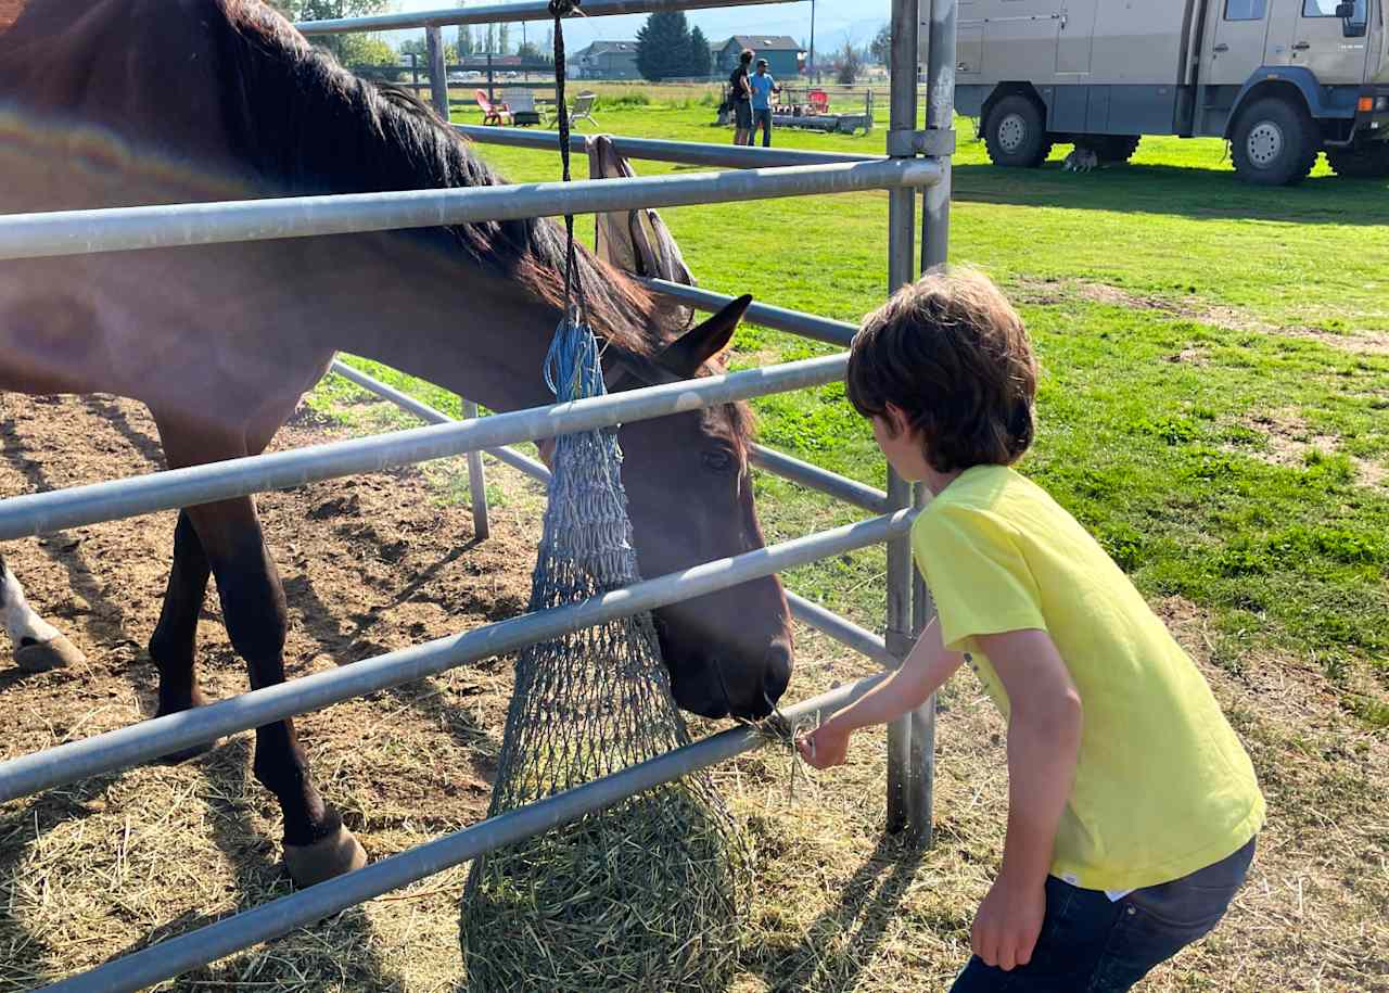
{"label": "bright green lawn between the parked truck and the dry ground", "polygon": [[[713,108],[689,104],[600,104],[597,118],[611,133],[729,140]],[[1129,167],[1065,174],[1058,146],[1042,169],[1006,171],[957,124],[951,260],[1010,293],[1045,371],[1024,469],[1146,594],[1210,611],[1222,665],[1296,656],[1363,722],[1389,726],[1389,183],[1321,164],[1301,186],[1250,187],[1222,143],[1161,137]],[[775,140],[881,153],[883,136]],[[554,154],[479,151],[514,181],[558,176]],[[885,297],[882,193],[663,217],[708,289],[849,321]],[[745,325],[735,347],[746,367],[828,346]],[[883,485],[840,385],[756,407],[765,443]],[[857,515],[774,476],[758,487],[768,540]],[[871,550],[788,581],[876,626],[882,572]]]}

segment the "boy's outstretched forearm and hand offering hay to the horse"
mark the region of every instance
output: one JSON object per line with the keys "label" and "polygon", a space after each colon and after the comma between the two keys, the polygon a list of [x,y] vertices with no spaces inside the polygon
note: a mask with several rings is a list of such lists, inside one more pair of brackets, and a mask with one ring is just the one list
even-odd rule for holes
{"label": "boy's outstretched forearm and hand offering hay to the horse", "polygon": [[817,769],[839,765],[849,750],[849,736],[860,728],[890,724],[924,704],[964,662],[958,651],[946,651],[940,624],[932,619],[901,665],[858,700],[836,711],[796,746]]}

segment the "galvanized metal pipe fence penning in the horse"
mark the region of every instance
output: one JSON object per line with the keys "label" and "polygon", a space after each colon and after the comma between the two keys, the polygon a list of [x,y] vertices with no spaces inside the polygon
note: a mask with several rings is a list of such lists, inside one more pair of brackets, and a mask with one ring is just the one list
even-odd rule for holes
{"label": "galvanized metal pipe fence penning in the horse", "polygon": [[[781,0],[588,0],[583,12],[628,14],[776,1]],[[956,4],[957,0],[893,0],[893,71],[886,158],[619,137],[617,139],[619,151],[632,157],[725,165],[747,171],[581,181],[567,185],[528,183],[472,190],[414,190],[8,215],[0,218],[0,260],[886,189],[889,190],[889,289],[893,289],[910,281],[915,272],[914,190],[918,187],[926,190],[921,265],[922,268],[938,265],[946,258]],[[528,0],[519,4],[319,21],[299,26],[310,35],[426,28],[432,56],[431,82],[436,97],[443,94],[440,110],[447,112],[447,83],[443,74],[439,26],[540,21],[549,17],[546,0]],[[928,83],[925,132],[915,129],[918,28],[921,62],[926,65]],[[483,129],[488,132],[485,136],[474,133],[478,131],[474,128],[464,126],[460,131],[481,140],[528,147],[557,147],[558,142],[557,136],[544,133],[521,137],[515,132],[500,129]],[[922,151],[929,154],[922,156]],[[658,281],[650,285],[661,293],[704,310],[728,301],[728,297],[707,290]],[[749,318],[838,346],[845,346],[853,335],[851,325],[765,304],[754,304],[749,310]],[[469,415],[464,421],[451,421],[428,404],[392,390],[360,371],[339,365],[338,371],[342,375],[431,421],[432,426],[3,500],[0,540],[461,453],[475,456],[489,451],[535,478],[546,479],[549,472],[543,465],[506,446],[822,385],[843,376],[845,361],[846,357],[842,354],[825,356],[803,362],[651,386],[481,419],[465,408]],[[506,654],[536,640],[600,624],[608,618],[701,596],[878,543],[888,544],[885,636],[865,631],[795,593],[789,593],[789,601],[803,622],[883,665],[899,664],[910,647],[913,635],[921,629],[931,611],[929,596],[920,581],[913,579],[906,543],[907,529],[915,514],[913,504],[920,504],[921,493],[913,493],[911,487],[893,474],[889,474],[888,492],[883,493],[783,453],[758,449],[753,458],[765,469],[868,507],[881,515],[647,579],[578,604],[525,614],[453,637],[392,651],[347,668],[253,690],[196,711],[156,718],[24,756],[0,764],[0,801],[126,768],[190,744],[419,679],[476,658]],[[475,511],[481,504],[483,517],[479,524],[485,531],[481,462],[474,464],[469,475],[475,486]],[[865,687],[867,682],[861,682],[836,690],[792,707],[788,715],[799,718],[815,710],[838,708]],[[929,840],[931,829],[933,718],[933,704],[928,704],[889,731],[889,826],[904,828],[920,842]],[[583,812],[600,810],[656,783],[706,768],[760,743],[761,740],[747,729],[715,735],[614,776],[381,860],[358,872],[161,942],[50,989],[140,989],[404,886],[500,844],[538,833]]]}

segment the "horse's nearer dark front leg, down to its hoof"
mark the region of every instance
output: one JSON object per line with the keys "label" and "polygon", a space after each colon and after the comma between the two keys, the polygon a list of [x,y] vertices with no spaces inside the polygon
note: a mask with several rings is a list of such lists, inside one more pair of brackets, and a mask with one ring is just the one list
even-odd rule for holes
{"label": "horse's nearer dark front leg, down to its hoof", "polygon": [[[156,417],[171,467],[192,465],[249,453],[247,440],[208,437]],[[261,447],[261,439],[250,450]],[[222,619],[232,647],[250,669],[251,689],[285,682],[285,635],[289,615],[279,572],[265,549],[260,518],[250,497],[189,507],[185,514],[217,581]],[[294,882],[311,886],[358,869],[363,850],[332,804],[314,786],[294,722],[276,721],[256,729],[256,779],[279,800],[285,818],[285,865]]]}

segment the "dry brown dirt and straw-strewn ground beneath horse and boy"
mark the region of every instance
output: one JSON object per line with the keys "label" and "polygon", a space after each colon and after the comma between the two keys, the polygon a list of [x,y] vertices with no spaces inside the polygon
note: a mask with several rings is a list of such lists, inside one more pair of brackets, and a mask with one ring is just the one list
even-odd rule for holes
{"label": "dry brown dirt and straw-strewn ground beneath horse and boy", "polygon": [[[310,415],[276,447],[342,436]],[[106,397],[0,396],[0,494],[161,468],[143,408]],[[460,632],[524,610],[539,532],[536,487],[489,465],[493,536],[472,542],[461,467],[306,486],[260,500],[289,597],[290,675]],[[463,489],[461,492],[465,492]],[[144,650],[174,515],[6,546],[31,601],[88,654],[85,671],[0,665],[0,758],[142,719]],[[1326,692],[1314,660],[1210,664],[1207,618],[1154,604],[1211,679],[1247,743],[1271,821],[1249,886],[1201,946],[1143,993],[1389,992],[1389,746]],[[214,697],[246,686],[218,619],[204,614],[200,672]],[[799,632],[801,699],[865,672]],[[507,660],[299,718],[314,774],[372,857],[479,819],[510,693]],[[697,733],[713,729],[699,725]],[[757,858],[735,993],[943,990],[996,869],[1006,811],[1003,725],[978,686],[942,696],[936,844],[882,836],[885,743],[856,739],[847,767],[793,775],[764,750],[717,782]],[[179,767],[144,767],[0,806],[0,990],[31,989],[151,940],[283,896],[279,817],[250,775],[250,735]],[[163,989],[456,990],[464,869],[346,911]]]}

